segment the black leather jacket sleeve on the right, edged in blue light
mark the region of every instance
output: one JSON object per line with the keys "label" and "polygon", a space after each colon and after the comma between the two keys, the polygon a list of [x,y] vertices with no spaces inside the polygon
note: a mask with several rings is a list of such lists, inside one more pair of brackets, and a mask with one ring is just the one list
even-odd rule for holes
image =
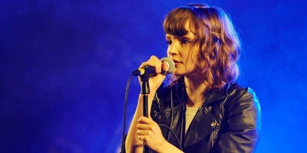
{"label": "black leather jacket sleeve on the right, edged in blue light", "polygon": [[261,130],[261,110],[252,89],[241,89],[225,107],[225,122],[212,153],[252,153]]}

